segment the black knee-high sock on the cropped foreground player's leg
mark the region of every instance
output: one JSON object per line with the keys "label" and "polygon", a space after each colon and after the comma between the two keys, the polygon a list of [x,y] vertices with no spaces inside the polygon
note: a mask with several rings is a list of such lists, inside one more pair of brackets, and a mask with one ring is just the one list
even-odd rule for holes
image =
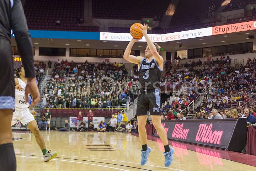
{"label": "black knee-high sock on the cropped foreground player's leg", "polygon": [[12,143],[0,145],[1,171],[16,171],[16,157]]}

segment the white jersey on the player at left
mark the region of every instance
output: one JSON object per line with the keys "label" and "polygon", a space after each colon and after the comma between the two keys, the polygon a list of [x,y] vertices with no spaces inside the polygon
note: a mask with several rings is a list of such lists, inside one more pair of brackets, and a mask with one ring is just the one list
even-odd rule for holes
{"label": "white jersey on the player at left", "polygon": [[26,96],[25,96],[26,83],[19,78],[17,80],[19,82],[19,85],[21,85],[21,90],[15,89],[15,107],[24,109],[30,106],[29,103],[26,103]]}

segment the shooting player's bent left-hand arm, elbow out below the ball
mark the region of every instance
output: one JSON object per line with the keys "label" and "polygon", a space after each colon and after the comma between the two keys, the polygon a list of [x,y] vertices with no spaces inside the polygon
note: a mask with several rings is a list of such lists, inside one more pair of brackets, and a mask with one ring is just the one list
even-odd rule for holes
{"label": "shooting player's bent left-hand arm, elbow out below the ball", "polygon": [[138,42],[140,39],[132,39],[128,46],[126,47],[126,50],[124,51],[124,59],[131,62],[131,63],[134,63],[134,64],[140,64],[141,60],[143,59],[143,57],[135,57],[134,55],[130,55],[130,52],[132,50],[132,47],[133,47],[133,44],[135,42]]}

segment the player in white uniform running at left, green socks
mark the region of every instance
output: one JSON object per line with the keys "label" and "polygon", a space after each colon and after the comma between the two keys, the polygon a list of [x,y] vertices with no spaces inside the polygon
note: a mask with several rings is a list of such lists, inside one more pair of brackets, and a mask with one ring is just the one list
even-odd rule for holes
{"label": "player in white uniform running at left, green socks", "polygon": [[43,152],[43,160],[49,161],[57,156],[57,152],[55,151],[54,153],[51,153],[51,150],[46,150],[43,136],[40,134],[37,122],[32,115],[36,114],[36,112],[33,110],[30,111],[28,108],[30,105],[25,101],[25,87],[27,79],[25,78],[25,70],[23,66],[18,67],[15,73],[15,112],[12,116],[12,125],[14,125],[18,120],[30,129],[36,138],[37,144]]}

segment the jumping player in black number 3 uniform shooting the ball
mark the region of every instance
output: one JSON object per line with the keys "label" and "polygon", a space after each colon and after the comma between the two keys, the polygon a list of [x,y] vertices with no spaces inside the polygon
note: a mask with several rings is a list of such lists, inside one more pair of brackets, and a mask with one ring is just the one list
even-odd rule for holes
{"label": "jumping player in black number 3 uniform shooting the ball", "polygon": [[150,112],[152,123],[159,133],[159,137],[164,144],[165,152],[165,167],[172,164],[174,149],[169,146],[167,135],[164,127],[161,125],[161,98],[160,98],[160,76],[163,69],[164,59],[159,55],[160,46],[153,43],[147,34],[148,25],[142,26],[142,33],[148,43],[145,50],[144,57],[135,57],[130,55],[131,49],[135,42],[140,39],[132,39],[128,44],[125,52],[124,59],[127,61],[138,64],[139,68],[139,83],[141,86],[140,94],[138,96],[137,105],[137,118],[139,137],[142,143],[142,159],[140,164],[145,165],[148,161],[151,148],[146,145],[146,120],[148,118],[147,111]]}

